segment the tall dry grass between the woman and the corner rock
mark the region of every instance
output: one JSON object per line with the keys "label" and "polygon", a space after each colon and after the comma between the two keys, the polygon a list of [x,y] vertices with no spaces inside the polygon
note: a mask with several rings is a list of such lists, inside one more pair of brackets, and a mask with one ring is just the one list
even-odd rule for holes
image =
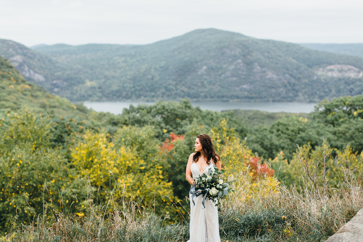
{"label": "tall dry grass between the woman and the corner rock", "polygon": [[324,195],[276,186],[274,179],[257,179],[256,186],[249,180],[241,174],[220,209],[220,234],[232,241],[325,241],[363,208],[360,181]]}

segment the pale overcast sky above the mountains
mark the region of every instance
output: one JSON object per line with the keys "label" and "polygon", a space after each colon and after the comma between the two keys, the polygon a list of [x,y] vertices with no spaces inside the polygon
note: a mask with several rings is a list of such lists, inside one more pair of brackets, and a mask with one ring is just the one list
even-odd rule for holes
{"label": "pale overcast sky above the mountains", "polygon": [[26,46],[150,44],[201,28],[294,43],[362,43],[362,0],[0,0],[0,38]]}

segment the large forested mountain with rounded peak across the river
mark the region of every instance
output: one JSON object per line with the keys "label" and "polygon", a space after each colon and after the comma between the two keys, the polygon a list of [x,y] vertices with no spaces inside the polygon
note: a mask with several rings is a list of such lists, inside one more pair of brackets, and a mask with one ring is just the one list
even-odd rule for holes
{"label": "large forested mountain with rounded peak across the river", "polygon": [[[37,83],[72,101],[319,102],[363,93],[361,57],[217,29],[149,45],[58,44],[28,51],[43,64],[37,70],[45,81]],[[11,61],[24,56],[6,53]],[[26,60],[35,70],[36,62]]]}

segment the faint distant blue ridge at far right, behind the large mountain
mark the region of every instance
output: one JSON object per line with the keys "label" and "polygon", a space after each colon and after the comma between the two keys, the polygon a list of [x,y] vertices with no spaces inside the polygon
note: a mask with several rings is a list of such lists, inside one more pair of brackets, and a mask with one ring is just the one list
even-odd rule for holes
{"label": "faint distant blue ridge at far right, behind the large mountain", "polygon": [[360,44],[300,44],[314,50],[363,57],[363,43]]}

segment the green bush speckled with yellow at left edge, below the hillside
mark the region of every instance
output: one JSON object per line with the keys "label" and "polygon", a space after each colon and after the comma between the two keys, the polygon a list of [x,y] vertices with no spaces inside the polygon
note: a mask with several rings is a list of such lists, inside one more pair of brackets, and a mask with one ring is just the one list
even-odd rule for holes
{"label": "green bush speckled with yellow at left edge, below the hillside", "polygon": [[48,220],[79,209],[85,182],[66,159],[66,149],[53,148],[49,116],[1,111],[0,120],[0,230],[32,223],[39,214]]}

